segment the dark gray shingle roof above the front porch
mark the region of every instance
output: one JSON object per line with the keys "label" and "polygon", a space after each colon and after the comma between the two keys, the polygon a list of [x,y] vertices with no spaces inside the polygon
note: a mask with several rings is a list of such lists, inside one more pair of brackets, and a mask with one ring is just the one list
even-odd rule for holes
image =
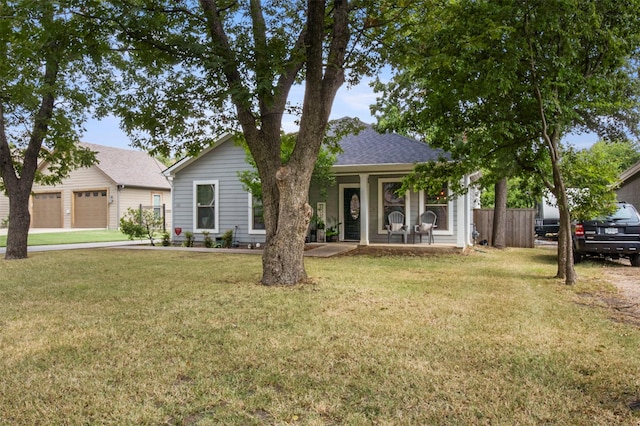
{"label": "dark gray shingle roof above the front porch", "polygon": [[370,125],[340,140],[336,166],[414,164],[438,160],[443,151],[395,133],[378,133]]}

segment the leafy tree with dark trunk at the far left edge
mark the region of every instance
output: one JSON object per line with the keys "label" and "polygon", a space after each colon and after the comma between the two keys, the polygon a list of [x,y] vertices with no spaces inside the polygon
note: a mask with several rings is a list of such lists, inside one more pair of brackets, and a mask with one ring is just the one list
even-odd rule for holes
{"label": "leafy tree with dark trunk at the far left edge", "polygon": [[[77,145],[82,125],[109,90],[113,36],[86,14],[101,1],[12,0],[0,5],[0,176],[9,196],[6,258],[27,256],[34,180],[59,182],[95,162]],[[47,173],[38,164],[47,163]]]}

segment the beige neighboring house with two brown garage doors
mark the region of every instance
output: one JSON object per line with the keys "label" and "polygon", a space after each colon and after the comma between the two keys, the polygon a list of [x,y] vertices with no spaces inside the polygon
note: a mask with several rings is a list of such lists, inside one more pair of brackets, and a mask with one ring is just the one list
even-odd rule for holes
{"label": "beige neighboring house with two brown garage doors", "polygon": [[[171,224],[171,185],[165,166],[146,152],[82,143],[98,162],[72,171],[55,186],[34,184],[30,200],[32,228],[118,229],[127,208],[140,205]],[[47,164],[40,170],[46,173]],[[0,200],[0,218],[8,216],[8,199]]]}

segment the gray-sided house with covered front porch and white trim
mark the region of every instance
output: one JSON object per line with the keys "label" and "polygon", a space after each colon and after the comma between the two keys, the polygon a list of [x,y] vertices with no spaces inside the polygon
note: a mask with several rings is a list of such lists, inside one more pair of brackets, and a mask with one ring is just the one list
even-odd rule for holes
{"label": "gray-sided house with covered front porch and white trim", "polygon": [[[386,243],[385,222],[391,211],[402,211],[413,229],[420,214],[432,210],[438,216],[436,243],[457,247],[471,243],[473,191],[458,197],[447,188],[437,194],[394,193],[415,163],[437,160],[441,151],[397,134],[379,134],[371,126],[343,138],[340,146],[342,153],[333,166],[336,185],[327,188],[325,199],[320,188],[312,187],[309,194],[309,203],[327,226],[340,224],[340,241]],[[165,170],[173,180],[174,240],[183,240],[186,231],[201,241],[203,232],[219,237],[233,230],[241,244],[264,242],[260,206],[238,180],[238,171],[250,168],[244,149],[225,136],[199,156]],[[469,183],[468,178],[465,181]],[[394,236],[393,242],[399,241]]]}

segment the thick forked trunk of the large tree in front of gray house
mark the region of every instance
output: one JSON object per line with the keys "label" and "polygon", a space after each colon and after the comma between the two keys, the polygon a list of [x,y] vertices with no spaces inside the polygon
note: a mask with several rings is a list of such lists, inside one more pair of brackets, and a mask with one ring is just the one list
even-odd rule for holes
{"label": "thick forked trunk of the large tree in front of gray house", "polygon": [[[259,1],[250,2],[256,43],[256,77],[264,84],[273,82],[272,91],[260,91],[257,116],[238,69],[235,53],[215,0],[200,0],[213,42],[224,65],[231,98],[247,145],[255,159],[262,183],[262,201],[266,228],[266,244],[262,255],[265,285],[297,284],[307,278],[304,269],[304,237],[312,216],[307,203],[314,164],[331,113],[336,92],[344,82],[344,61],[349,34],[349,2],[308,0],[307,25],[295,42],[286,69],[270,68],[266,44],[266,27]],[[326,55],[325,55],[326,53]],[[303,60],[301,60],[303,58]],[[280,160],[280,128],[291,86],[305,73],[305,95],[296,146],[287,164]]]}

